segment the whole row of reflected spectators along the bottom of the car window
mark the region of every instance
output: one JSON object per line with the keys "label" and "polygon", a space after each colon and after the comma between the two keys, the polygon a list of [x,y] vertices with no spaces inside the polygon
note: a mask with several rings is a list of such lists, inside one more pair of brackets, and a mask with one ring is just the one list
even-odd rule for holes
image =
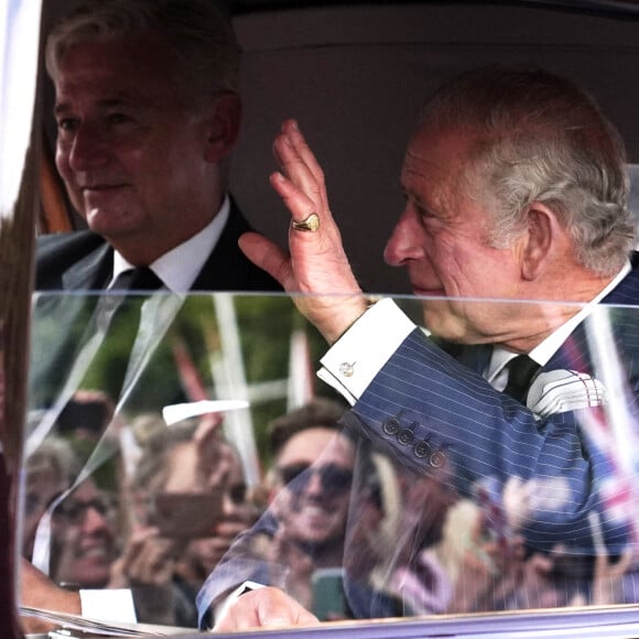
{"label": "whole row of reflected spectators along the bottom of the car window", "polygon": [[[268,424],[272,463],[250,488],[223,415],[167,427],[140,414],[117,436],[102,410],[76,413],[101,415],[99,427],[71,427],[66,415],[25,462],[23,556],[36,559],[48,533],[56,584],[129,588],[139,621],[191,628],[212,573],[217,614],[246,581],[277,585],[325,620],[637,600],[630,550],[527,544],[538,513],[563,508],[560,478],[484,477],[461,494],[447,458],[418,476],[343,427],[345,410],[315,399]],[[116,440],[83,474],[84,444]],[[599,516],[589,524],[600,538]]]}

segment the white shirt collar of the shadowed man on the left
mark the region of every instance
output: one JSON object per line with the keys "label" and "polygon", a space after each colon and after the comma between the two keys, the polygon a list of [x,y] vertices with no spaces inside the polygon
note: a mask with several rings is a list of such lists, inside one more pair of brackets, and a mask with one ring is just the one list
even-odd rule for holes
{"label": "white shirt collar of the shadowed man on the left", "polygon": [[[164,282],[166,289],[173,293],[186,293],[191,290],[208,256],[217,245],[229,215],[230,198],[226,195],[220,209],[209,224],[149,264],[149,268]],[[118,251],[113,251],[113,275],[108,289],[112,286],[121,272],[132,268],[133,264]]]}

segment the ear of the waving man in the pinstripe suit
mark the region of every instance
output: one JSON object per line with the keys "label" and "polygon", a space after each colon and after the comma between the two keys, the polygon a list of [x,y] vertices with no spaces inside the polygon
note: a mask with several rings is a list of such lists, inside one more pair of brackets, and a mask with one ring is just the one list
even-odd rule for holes
{"label": "ear of the waving man in the pinstripe suit", "polygon": [[549,266],[562,227],[555,213],[539,202],[528,209],[528,231],[521,253],[521,274],[526,280],[535,280]]}

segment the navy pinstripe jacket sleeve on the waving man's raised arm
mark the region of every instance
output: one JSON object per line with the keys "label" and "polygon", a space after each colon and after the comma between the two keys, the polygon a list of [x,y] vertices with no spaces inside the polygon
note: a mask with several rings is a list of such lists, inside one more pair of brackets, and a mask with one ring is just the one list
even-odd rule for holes
{"label": "navy pinstripe jacket sleeve on the waving man's raised arm", "polygon": [[[592,553],[588,517],[605,510],[597,487],[608,468],[584,438],[578,416],[535,419],[415,329],[344,421],[402,466],[418,475],[440,474],[463,495],[487,477],[501,485],[510,477],[561,485],[560,503],[537,510],[522,533],[534,549],[570,543],[575,552]],[[604,531],[609,548],[627,541],[622,523],[606,522]]]}

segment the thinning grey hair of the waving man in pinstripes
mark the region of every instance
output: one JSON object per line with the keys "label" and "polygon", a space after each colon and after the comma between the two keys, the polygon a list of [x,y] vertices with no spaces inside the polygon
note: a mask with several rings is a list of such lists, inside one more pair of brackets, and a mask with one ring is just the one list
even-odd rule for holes
{"label": "thinning grey hair of the waving man in pinstripes", "polygon": [[619,271],[635,243],[621,137],[595,100],[539,68],[484,67],[444,86],[420,127],[466,130],[466,195],[492,215],[491,246],[509,246],[533,203],[551,208],[575,259],[600,275]]}

